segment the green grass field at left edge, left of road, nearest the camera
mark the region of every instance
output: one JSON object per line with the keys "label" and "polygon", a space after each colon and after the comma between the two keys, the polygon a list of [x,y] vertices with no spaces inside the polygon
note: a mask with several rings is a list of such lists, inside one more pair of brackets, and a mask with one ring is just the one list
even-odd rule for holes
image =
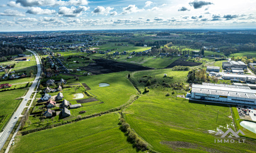
{"label": "green grass field at left edge, left of road, nearest the camera", "polygon": [[11,91],[3,91],[0,94],[0,116],[5,115],[3,120],[0,122],[0,130],[3,128],[4,124],[12,116],[13,112],[16,110],[16,107],[19,105],[22,97],[27,90],[25,89],[16,89]]}

